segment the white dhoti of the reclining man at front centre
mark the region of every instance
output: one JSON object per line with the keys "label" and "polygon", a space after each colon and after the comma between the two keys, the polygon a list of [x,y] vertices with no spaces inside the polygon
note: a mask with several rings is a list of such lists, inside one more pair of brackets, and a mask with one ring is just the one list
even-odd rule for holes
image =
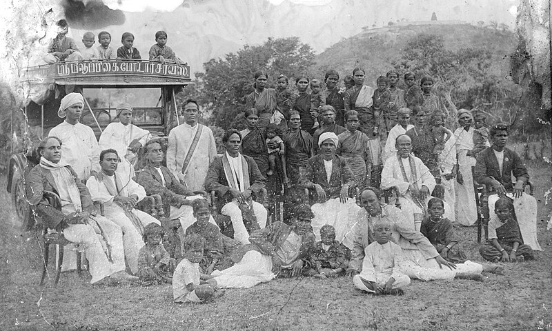
{"label": "white dhoti of the reclining man at front centre", "polygon": [[276,277],[272,272],[272,258],[256,250],[246,252],[242,260],[230,268],[215,270],[211,275],[219,288],[252,288]]}

